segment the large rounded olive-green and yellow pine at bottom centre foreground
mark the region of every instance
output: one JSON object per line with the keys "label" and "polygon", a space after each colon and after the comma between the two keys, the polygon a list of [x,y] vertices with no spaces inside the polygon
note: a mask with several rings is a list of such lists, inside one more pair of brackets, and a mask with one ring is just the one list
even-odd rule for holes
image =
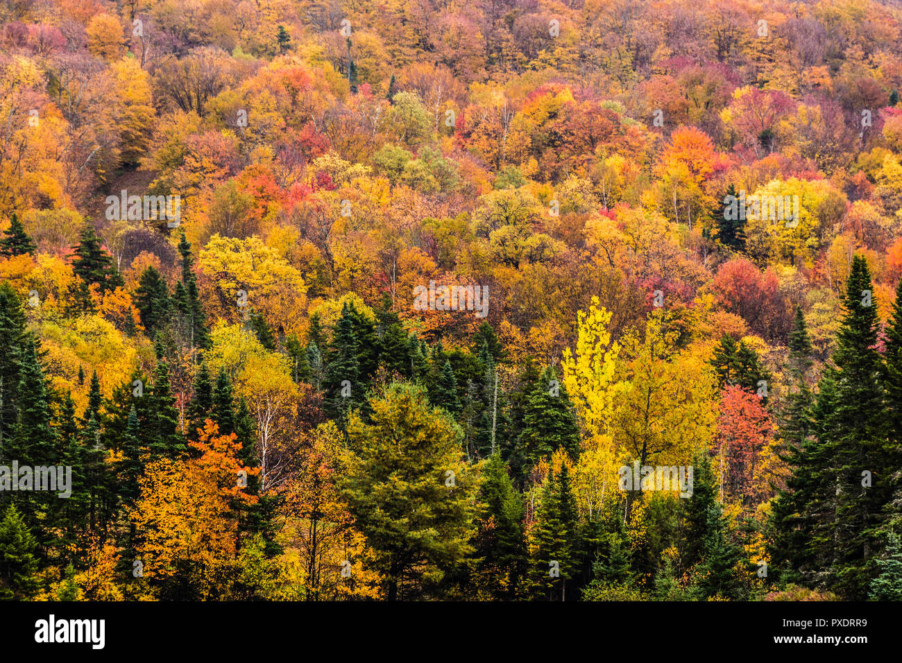
{"label": "large rounded olive-green and yellow pine at bottom centre foreground", "polygon": [[476,486],[459,430],[422,387],[393,383],[371,407],[371,423],[348,425],[341,487],[393,601],[428,591],[472,552]]}

